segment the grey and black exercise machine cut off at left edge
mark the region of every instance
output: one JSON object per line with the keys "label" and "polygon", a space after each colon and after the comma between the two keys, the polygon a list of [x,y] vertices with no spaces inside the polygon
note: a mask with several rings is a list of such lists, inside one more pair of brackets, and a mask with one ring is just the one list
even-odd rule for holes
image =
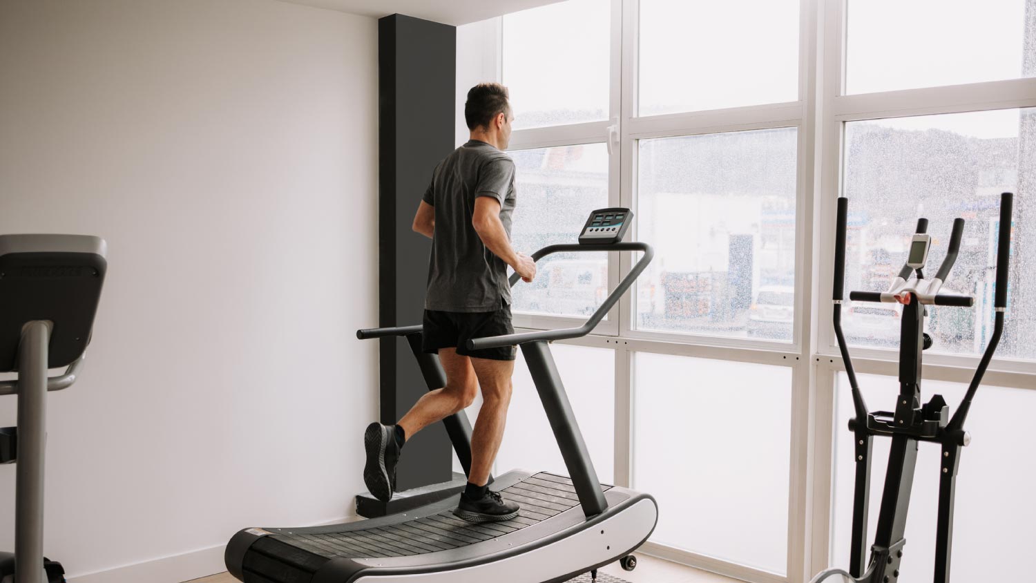
{"label": "grey and black exercise machine cut off at left edge", "polygon": [[[64,583],[44,557],[47,392],[71,386],[90,343],[107,244],[82,235],[0,235],[0,396],[18,395],[18,427],[0,428],[0,464],[18,462],[15,552],[0,552],[0,583]],[[68,367],[58,377],[48,369]]]}

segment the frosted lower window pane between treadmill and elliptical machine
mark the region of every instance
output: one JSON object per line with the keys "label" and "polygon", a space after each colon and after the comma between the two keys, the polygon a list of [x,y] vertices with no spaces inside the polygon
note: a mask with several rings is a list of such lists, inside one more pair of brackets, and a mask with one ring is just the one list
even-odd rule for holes
{"label": "frosted lower window pane between treadmill and elliptical machine", "polygon": [[652,541],[765,571],[787,563],[792,369],[638,352],[633,486]]}

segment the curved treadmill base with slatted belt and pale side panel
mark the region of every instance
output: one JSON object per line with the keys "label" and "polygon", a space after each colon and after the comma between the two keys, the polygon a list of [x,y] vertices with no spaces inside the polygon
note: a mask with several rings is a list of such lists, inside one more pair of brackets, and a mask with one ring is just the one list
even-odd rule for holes
{"label": "curved treadmill base with slatted belt and pale side panel", "polygon": [[250,528],[227,546],[227,567],[246,583],[565,581],[628,554],[658,517],[651,496],[602,486],[608,508],[587,520],[572,480],[546,472],[509,472],[494,487],[521,505],[517,518],[467,523],[451,498],[346,524]]}

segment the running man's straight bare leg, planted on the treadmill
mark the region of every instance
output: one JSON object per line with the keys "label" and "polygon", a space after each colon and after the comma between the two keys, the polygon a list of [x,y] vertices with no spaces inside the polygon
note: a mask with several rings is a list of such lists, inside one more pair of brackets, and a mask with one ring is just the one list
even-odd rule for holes
{"label": "running man's straight bare leg, planted on the treadmill", "polygon": [[515,362],[471,358],[471,366],[482,387],[482,410],[471,432],[471,474],[467,480],[476,486],[485,486],[503,440]]}

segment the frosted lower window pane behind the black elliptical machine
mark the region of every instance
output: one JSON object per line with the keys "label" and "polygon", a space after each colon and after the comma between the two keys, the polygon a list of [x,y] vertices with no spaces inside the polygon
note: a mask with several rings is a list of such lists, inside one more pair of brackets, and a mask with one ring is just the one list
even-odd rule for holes
{"label": "frosted lower window pane behind the black elliptical machine", "polygon": [[[848,565],[853,524],[855,461],[853,434],[847,424],[853,415],[848,380],[843,373],[836,382],[834,451],[834,500],[832,557],[834,566]],[[894,377],[858,375],[863,398],[871,409],[892,410],[899,392]],[[968,389],[966,384],[924,381],[922,402],[942,395],[950,413]],[[1025,453],[1036,448],[1032,412],[1036,391],[981,386],[965,429],[971,445],[960,455],[954,509],[952,570],[954,581],[1019,581],[1030,573],[1030,557],[1036,547],[1036,504],[1032,485],[1036,482],[1036,457]],[[867,544],[873,542],[882,487],[888,467],[888,438],[875,437],[870,470],[870,524]],[[900,580],[930,581],[936,560],[936,520],[939,503],[940,447],[921,443],[914,473],[914,489],[906,518]],[[996,560],[989,560],[996,557]]]}

